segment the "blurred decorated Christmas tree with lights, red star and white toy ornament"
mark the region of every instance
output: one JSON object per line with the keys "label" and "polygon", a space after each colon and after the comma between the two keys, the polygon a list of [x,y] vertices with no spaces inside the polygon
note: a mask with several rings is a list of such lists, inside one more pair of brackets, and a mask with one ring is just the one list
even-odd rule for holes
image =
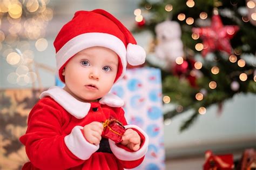
{"label": "blurred decorated Christmas tree with lights, red star and white toy ornament", "polygon": [[[163,101],[185,111],[188,128],[207,107],[237,93],[256,93],[256,1],[142,1],[134,32],[150,31],[147,65],[162,72]],[[152,58],[157,58],[153,60]],[[164,63],[164,64],[159,64]]]}

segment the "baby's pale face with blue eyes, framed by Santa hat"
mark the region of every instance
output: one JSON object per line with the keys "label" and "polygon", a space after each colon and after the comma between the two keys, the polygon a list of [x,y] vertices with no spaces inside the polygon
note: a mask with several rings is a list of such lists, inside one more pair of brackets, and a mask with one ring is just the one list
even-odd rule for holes
{"label": "baby's pale face with blue eyes, framed by Santa hat", "polygon": [[65,66],[66,86],[80,101],[93,101],[107,94],[116,78],[118,56],[105,47],[90,47],[78,52]]}

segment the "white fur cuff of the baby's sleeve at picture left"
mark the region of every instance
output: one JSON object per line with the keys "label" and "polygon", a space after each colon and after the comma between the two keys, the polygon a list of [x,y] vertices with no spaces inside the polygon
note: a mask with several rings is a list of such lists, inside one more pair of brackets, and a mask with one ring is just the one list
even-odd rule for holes
{"label": "white fur cuff of the baby's sleeve at picture left", "polygon": [[87,160],[99,149],[99,145],[90,144],[85,138],[81,130],[82,126],[75,126],[69,135],[64,138],[66,146],[69,150],[82,160]]}

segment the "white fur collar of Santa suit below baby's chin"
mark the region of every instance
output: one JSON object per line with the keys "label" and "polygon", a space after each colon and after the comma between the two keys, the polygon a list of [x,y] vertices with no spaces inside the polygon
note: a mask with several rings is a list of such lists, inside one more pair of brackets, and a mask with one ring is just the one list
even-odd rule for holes
{"label": "white fur collar of Santa suit below baby's chin", "polygon": [[[84,103],[77,100],[76,98],[71,96],[71,94],[58,86],[50,87],[49,90],[41,93],[39,98],[42,99],[46,96],[50,96],[53,100],[55,100],[58,104],[65,108],[66,111],[68,111],[77,119],[84,118],[91,107],[90,103]],[[99,103],[111,107],[122,107],[124,105],[124,101],[112,93],[106,94],[106,96],[99,100]]]}

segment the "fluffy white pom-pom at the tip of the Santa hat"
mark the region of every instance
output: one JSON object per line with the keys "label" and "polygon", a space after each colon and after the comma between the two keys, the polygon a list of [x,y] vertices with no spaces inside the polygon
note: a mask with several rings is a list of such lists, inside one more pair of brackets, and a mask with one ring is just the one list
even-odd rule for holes
{"label": "fluffy white pom-pom at the tip of the Santa hat", "polygon": [[126,58],[130,65],[140,65],[145,62],[146,51],[143,47],[129,43],[126,48]]}

